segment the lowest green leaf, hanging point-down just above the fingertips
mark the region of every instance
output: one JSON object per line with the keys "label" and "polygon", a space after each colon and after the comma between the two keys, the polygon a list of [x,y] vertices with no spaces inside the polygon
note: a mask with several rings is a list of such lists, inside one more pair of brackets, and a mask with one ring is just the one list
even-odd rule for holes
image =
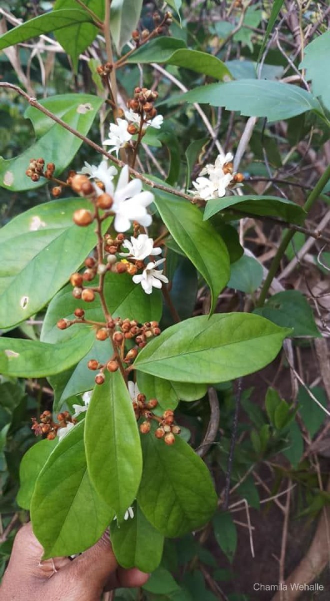
{"label": "lowest green leaf, hanging point-down just above the fingertips", "polygon": [[139,508],[134,507],[134,518],[119,526],[114,520],[110,527],[113,552],[119,565],[137,567],[142,572],[154,572],[161,562],[164,537],[148,522]]}

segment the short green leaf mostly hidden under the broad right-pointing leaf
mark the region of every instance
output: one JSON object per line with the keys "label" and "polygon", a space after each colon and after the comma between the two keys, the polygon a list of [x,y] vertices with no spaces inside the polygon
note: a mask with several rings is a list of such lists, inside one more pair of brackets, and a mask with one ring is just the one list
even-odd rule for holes
{"label": "short green leaf mostly hidden under the broad right-pointing leaf", "polygon": [[207,390],[205,384],[173,382],[142,371],[137,372],[137,384],[140,392],[145,394],[148,400],[157,398],[163,410],[175,409],[179,401],[196,401],[197,398],[202,398]]}

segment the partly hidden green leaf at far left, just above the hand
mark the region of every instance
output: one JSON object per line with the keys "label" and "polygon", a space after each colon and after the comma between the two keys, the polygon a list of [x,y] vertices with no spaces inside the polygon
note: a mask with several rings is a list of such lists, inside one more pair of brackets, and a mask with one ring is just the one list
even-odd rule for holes
{"label": "partly hidden green leaf at far left, just above the hand", "polygon": [[58,438],[53,441],[46,438],[29,448],[23,456],[19,468],[20,489],[17,495],[17,503],[23,509],[29,510],[38,475],[57,444]]}

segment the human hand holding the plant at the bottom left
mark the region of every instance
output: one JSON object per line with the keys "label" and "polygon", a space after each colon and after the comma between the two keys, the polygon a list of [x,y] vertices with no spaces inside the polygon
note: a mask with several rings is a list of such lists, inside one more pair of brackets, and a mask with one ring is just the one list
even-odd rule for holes
{"label": "human hand holding the plant at the bottom left", "polygon": [[31,523],[17,532],[0,587],[0,601],[99,601],[103,590],[141,587],[149,575],[118,567],[106,534],[73,561],[40,561],[43,548]]}

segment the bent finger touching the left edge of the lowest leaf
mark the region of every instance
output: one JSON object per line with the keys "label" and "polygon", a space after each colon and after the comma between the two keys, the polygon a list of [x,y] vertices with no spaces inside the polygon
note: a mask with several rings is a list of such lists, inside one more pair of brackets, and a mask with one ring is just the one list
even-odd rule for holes
{"label": "bent finger touching the left edge of the lowest leaf", "polygon": [[104,532],[96,545],[83,552],[71,563],[71,568],[75,570],[78,578],[90,579],[92,577],[102,588],[107,578],[115,573],[117,567],[118,563],[107,532]]}

